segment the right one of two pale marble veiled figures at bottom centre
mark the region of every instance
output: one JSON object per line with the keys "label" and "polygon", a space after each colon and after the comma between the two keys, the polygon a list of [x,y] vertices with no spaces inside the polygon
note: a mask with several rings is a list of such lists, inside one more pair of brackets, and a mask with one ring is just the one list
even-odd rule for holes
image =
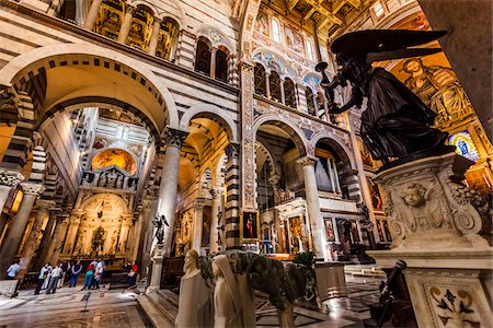
{"label": "right one of two pale marble veiled figures at bottom centre", "polygon": [[226,255],[214,258],[213,272],[216,277],[214,327],[255,327],[252,291],[246,277],[234,277]]}

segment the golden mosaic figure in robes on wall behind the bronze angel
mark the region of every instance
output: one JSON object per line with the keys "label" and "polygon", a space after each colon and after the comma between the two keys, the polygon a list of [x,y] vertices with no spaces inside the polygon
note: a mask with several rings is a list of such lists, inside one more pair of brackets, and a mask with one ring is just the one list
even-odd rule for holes
{"label": "golden mosaic figure in robes on wall behind the bronze angel", "polygon": [[410,77],[405,86],[414,92],[438,116],[435,124],[463,117],[472,110],[466,92],[456,74],[442,66],[424,66],[420,58],[410,58],[403,65]]}

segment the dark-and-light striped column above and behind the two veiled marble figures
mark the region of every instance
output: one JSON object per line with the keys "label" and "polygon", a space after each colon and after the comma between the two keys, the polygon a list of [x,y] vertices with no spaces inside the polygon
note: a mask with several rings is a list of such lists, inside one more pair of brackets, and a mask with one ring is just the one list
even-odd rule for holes
{"label": "dark-and-light striped column above and behind the two veiled marble figures", "polygon": [[226,249],[239,249],[240,244],[240,145],[226,147]]}

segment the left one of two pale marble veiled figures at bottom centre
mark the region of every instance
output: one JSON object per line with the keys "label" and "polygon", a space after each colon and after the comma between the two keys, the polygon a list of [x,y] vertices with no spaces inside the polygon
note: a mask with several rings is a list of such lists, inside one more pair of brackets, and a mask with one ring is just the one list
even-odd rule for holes
{"label": "left one of two pale marble veiled figures at bottom centre", "polygon": [[179,313],[175,327],[214,327],[214,291],[197,268],[198,254],[195,249],[185,255],[180,281]]}

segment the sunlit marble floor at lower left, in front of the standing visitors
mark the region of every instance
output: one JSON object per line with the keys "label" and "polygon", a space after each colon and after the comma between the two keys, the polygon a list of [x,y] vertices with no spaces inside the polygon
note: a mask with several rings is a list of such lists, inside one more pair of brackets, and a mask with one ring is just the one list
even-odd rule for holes
{"label": "sunlit marble floor at lower left, in front of the standing visitors", "polygon": [[27,290],[15,298],[0,297],[0,327],[152,327],[134,293],[80,289],[61,288],[50,295]]}

